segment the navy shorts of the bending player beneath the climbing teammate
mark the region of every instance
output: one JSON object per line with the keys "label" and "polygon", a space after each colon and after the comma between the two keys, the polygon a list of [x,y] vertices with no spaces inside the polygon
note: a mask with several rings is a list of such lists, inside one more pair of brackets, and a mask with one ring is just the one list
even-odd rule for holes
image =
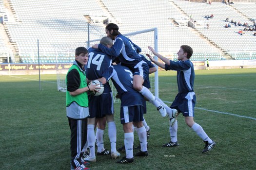
{"label": "navy shorts of the bending player beneath the climbing teammate", "polygon": [[121,106],[120,120],[121,124],[129,122],[143,121],[144,107],[142,105]]}

